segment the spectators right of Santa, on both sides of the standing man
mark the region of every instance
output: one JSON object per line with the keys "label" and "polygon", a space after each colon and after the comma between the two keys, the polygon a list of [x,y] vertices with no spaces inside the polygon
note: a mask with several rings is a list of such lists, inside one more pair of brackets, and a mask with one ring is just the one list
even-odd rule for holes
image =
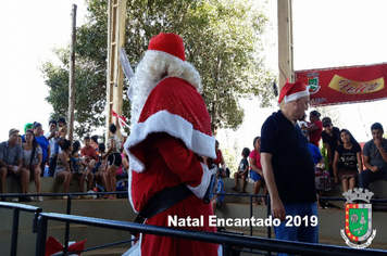
{"label": "spectators right of Santa, on both sides of the standing man", "polygon": [[[314,164],[315,189],[317,197],[332,189],[332,183],[342,185],[342,192],[354,188],[369,188],[375,180],[387,180],[387,140],[383,138],[384,129],[379,123],[371,127],[373,139],[365,143],[364,149],[348,129],[339,129],[333,125],[329,117],[320,120],[321,114],[316,111],[310,113],[310,121],[305,121],[305,114],[297,121],[302,135],[309,142],[310,153]],[[313,138],[313,139],[312,139]],[[324,144],[326,158],[323,157],[321,141]],[[253,149],[245,148],[238,170],[234,172],[235,184],[232,190],[246,192],[246,183],[250,178],[253,181],[253,193],[267,194],[265,179],[261,164],[261,138],[253,140]],[[217,153],[222,155],[222,153]],[[365,168],[364,168],[365,167]],[[239,190],[239,180],[241,180]],[[254,205],[265,205],[265,197],[261,202],[254,199]],[[319,208],[324,208],[317,201]]]}

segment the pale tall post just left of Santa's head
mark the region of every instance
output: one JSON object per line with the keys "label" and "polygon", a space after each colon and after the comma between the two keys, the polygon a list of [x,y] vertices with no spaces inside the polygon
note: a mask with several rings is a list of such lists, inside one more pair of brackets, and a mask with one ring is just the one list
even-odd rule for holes
{"label": "pale tall post just left of Santa's head", "polygon": [[120,62],[120,49],[125,44],[126,28],[126,0],[109,0],[108,11],[108,77],[107,77],[107,135],[109,139],[109,125],[117,126],[116,135],[121,136],[116,117],[112,110],[122,115],[124,73]]}

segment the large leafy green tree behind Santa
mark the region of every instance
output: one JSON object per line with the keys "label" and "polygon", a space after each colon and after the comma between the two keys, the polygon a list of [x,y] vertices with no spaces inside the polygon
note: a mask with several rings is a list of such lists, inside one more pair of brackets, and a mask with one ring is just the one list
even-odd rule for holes
{"label": "large leafy green tree behind Santa", "polygon": [[[107,71],[107,0],[87,0],[87,23],[77,29],[76,132],[104,124]],[[212,118],[212,131],[236,129],[244,119],[238,99],[259,95],[261,105],[273,98],[266,85],[273,76],[264,68],[260,51],[266,17],[254,0],[128,0],[126,52],[136,66],[149,39],[176,33],[185,41],[187,61],[199,71],[203,98]],[[55,114],[66,116],[68,49],[57,50],[61,65],[42,65],[50,88],[48,102]],[[129,116],[125,80],[124,115]]]}

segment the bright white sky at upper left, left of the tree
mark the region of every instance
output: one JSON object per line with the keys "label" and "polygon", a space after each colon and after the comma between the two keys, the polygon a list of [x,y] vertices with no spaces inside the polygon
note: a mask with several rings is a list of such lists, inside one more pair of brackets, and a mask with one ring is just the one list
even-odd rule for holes
{"label": "bright white sky at upper left, left of the tree", "polygon": [[[52,107],[45,100],[48,87],[39,67],[54,60],[51,49],[71,39],[72,4],[77,5],[77,25],[86,5],[80,0],[2,1],[0,15],[0,141],[11,128],[39,121],[48,128]],[[24,133],[24,131],[22,132]]]}

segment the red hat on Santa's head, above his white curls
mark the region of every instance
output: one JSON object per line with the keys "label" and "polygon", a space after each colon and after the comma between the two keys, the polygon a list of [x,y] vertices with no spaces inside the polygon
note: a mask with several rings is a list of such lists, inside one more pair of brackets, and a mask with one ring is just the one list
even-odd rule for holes
{"label": "red hat on Santa's head, above his white curls", "polygon": [[183,39],[176,34],[160,33],[149,41],[148,51],[161,51],[186,61]]}

